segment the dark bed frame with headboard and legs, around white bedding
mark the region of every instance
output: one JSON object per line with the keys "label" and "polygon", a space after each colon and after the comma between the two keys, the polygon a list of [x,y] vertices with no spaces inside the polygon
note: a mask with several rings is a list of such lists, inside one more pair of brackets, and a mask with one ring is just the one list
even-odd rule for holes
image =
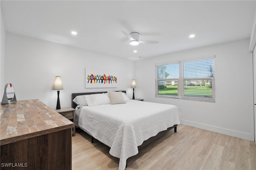
{"label": "dark bed frame with headboard and legs, around white bedding", "polygon": [[[120,91],[116,91],[116,92],[120,92]],[[122,90],[121,92],[124,92],[126,94],[125,90]],[[71,94],[71,106],[75,109],[76,108],[76,104],[73,102],[74,98],[76,96],[80,96],[80,95],[87,95],[87,94],[100,94],[100,93],[107,93],[107,92],[82,92],[82,93],[72,93]],[[177,132],[177,125],[174,125],[172,127],[168,127],[165,131],[161,131],[159,132],[156,136],[154,137],[150,137],[148,140],[144,141],[142,143],[142,145],[138,146],[138,150],[142,149],[143,147],[145,147],[146,145],[148,145],[149,143],[151,143],[152,141],[158,139],[159,137],[162,137],[164,134],[166,134],[168,131],[170,131],[171,129],[174,129],[174,132]],[[94,143],[94,137],[92,136],[92,143]],[[126,167],[127,167],[127,160],[126,160]]]}

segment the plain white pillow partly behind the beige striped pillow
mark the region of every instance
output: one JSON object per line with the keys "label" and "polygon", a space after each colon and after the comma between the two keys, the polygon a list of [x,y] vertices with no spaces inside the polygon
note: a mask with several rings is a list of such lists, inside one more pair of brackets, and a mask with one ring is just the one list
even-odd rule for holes
{"label": "plain white pillow partly behind the beige striped pillow", "polygon": [[108,94],[89,94],[85,96],[88,106],[96,106],[101,104],[110,104]]}

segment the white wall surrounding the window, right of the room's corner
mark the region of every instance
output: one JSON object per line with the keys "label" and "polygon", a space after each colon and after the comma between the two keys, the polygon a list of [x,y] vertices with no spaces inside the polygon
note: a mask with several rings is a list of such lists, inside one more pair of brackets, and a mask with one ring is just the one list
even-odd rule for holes
{"label": "white wall surrounding the window, right of the room's corner", "polygon": [[[249,39],[136,61],[136,98],[174,104],[181,123],[254,141],[253,69]],[[155,64],[216,55],[216,102],[155,98]]]}

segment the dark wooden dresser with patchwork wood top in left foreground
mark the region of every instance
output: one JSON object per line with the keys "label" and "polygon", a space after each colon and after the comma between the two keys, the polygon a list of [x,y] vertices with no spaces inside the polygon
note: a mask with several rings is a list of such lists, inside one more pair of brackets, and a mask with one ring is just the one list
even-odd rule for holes
{"label": "dark wooden dresser with patchwork wood top in left foreground", "polygon": [[2,104],[0,115],[1,170],[72,169],[72,121],[40,100]]}

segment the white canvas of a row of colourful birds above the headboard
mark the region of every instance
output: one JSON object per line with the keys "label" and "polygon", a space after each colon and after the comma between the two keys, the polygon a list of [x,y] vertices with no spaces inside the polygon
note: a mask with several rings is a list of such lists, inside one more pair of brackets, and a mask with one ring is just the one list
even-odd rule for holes
{"label": "white canvas of a row of colourful birds above the headboard", "polygon": [[118,78],[114,71],[86,68],[86,88],[113,88],[117,87]]}

